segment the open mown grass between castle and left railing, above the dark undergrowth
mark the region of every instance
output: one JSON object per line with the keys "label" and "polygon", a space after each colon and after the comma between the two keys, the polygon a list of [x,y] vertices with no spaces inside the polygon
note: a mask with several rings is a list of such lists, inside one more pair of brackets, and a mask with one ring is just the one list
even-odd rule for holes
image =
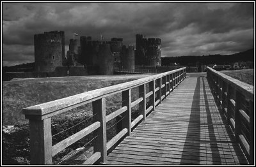
{"label": "open mown grass between castle and left railing, above the dark undergrowth", "polygon": [[[70,76],[3,82],[3,125],[28,123],[22,115],[22,108],[146,76],[149,75]],[[113,103],[120,101],[120,98],[120,95],[107,98],[107,106],[114,106]]]}

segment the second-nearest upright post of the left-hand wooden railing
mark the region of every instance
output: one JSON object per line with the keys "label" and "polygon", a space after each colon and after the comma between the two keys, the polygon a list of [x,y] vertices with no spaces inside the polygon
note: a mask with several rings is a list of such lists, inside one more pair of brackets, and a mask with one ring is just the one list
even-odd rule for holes
{"label": "second-nearest upright post of the left-hand wooden railing", "polygon": [[97,115],[94,120],[100,122],[100,127],[96,130],[97,138],[93,145],[93,152],[100,152],[101,156],[96,163],[105,163],[107,158],[107,134],[106,134],[106,99],[98,99],[92,102],[93,115]]}

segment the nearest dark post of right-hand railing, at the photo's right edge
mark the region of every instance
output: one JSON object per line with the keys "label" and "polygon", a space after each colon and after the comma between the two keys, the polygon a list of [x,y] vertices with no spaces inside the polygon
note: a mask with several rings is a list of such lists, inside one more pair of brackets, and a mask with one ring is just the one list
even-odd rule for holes
{"label": "nearest dark post of right-hand railing, at the photo's right edge", "polygon": [[254,149],[254,103],[250,100],[250,164],[254,164]]}

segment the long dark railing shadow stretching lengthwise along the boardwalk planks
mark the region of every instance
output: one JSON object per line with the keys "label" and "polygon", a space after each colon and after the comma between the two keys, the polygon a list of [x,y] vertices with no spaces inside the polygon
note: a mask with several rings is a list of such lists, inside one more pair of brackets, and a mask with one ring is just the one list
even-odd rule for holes
{"label": "long dark railing shadow stretching lengthwise along the boardwalk planks", "polygon": [[[202,80],[202,83],[201,83]],[[202,89],[204,92],[204,103],[200,104],[200,87],[202,84]],[[205,106],[205,112],[207,117],[207,126],[208,126],[208,132],[209,132],[209,140],[210,140],[210,149],[211,152],[214,152],[214,156],[212,156],[212,164],[221,164],[221,157],[220,152],[218,151],[218,145],[216,143],[216,136],[214,134],[214,127],[211,117],[211,110],[209,108],[209,102],[205,90],[205,81],[204,76],[198,76],[196,81],[196,87],[193,95],[193,102],[191,106],[191,114],[189,117],[189,125],[188,125],[188,133],[186,136],[186,141],[184,143],[184,148],[182,151],[182,157],[180,160],[180,164],[187,164],[186,163],[186,157],[193,156],[193,164],[200,164],[200,145],[201,143],[206,143],[207,141],[204,141],[201,139],[204,136],[201,136],[201,115],[200,112],[204,112],[201,110],[202,106]],[[201,101],[202,102],[202,101]],[[204,113],[203,113],[204,114]],[[204,121],[204,120],[203,120]],[[195,136],[191,136],[191,134],[195,134]],[[202,134],[204,135],[204,134]],[[196,141],[193,146],[191,146],[191,141]],[[206,145],[205,145],[206,146]],[[196,148],[196,149],[195,149]],[[193,150],[193,152],[191,152]]]}

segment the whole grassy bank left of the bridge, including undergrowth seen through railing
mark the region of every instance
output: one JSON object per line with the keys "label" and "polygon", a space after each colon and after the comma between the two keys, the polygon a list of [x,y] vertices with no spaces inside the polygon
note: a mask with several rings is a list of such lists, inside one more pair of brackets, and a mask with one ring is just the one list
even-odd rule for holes
{"label": "whole grassy bank left of the bridge, including undergrowth seen through railing", "polygon": [[[118,83],[129,82],[148,75],[118,75],[118,76],[79,76],[63,78],[29,78],[3,82],[3,125],[13,125],[10,132],[3,133],[3,164],[29,164],[29,126],[28,120],[22,115],[22,108],[65,98],[86,91],[92,91]],[[132,101],[138,96],[138,90],[132,89]],[[108,115],[122,106],[122,94],[106,98],[106,114]],[[132,120],[138,116],[136,108],[132,108]],[[58,117],[52,117],[52,144],[56,144],[92,124],[92,104],[84,105]],[[107,140],[116,133],[117,120],[107,124]],[[69,129],[72,127],[72,129]],[[65,129],[69,129],[65,131]],[[60,133],[61,132],[61,133]],[[56,135],[55,135],[56,134]],[[95,134],[90,134],[67,147],[52,158],[58,162],[68,152],[83,147]],[[92,145],[92,142],[87,146]]]}

